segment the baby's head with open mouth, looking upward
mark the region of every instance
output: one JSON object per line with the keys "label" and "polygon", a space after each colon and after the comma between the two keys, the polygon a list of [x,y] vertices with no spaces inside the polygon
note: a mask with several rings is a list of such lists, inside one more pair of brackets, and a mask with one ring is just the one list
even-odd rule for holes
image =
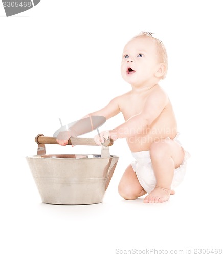
{"label": "baby's head with open mouth, looking upward", "polygon": [[131,85],[159,82],[166,77],[167,67],[166,49],[152,33],[141,32],[124,47],[121,73]]}

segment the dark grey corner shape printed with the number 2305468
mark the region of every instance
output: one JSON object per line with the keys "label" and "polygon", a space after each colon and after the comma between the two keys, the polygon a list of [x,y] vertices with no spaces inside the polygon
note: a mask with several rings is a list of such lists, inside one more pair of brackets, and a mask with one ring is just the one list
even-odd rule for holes
{"label": "dark grey corner shape printed with the number 2305468", "polygon": [[[21,12],[25,12],[31,8],[33,8],[34,6],[36,6],[40,0],[7,0],[3,2],[3,7],[5,9],[6,12],[6,16],[12,16]],[[34,4],[34,6],[33,6]]]}

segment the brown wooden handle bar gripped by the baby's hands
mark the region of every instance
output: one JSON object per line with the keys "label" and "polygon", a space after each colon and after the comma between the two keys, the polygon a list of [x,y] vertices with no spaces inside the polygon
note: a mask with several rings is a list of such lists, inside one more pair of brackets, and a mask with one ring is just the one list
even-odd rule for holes
{"label": "brown wooden handle bar gripped by the baby's hands", "polygon": [[[72,140],[72,142],[71,142]],[[43,134],[38,134],[35,138],[37,144],[58,144],[55,137],[46,137]],[[98,146],[93,138],[71,138],[68,140],[68,145],[83,145],[83,146]],[[103,143],[104,146],[112,146],[113,140],[108,139]]]}

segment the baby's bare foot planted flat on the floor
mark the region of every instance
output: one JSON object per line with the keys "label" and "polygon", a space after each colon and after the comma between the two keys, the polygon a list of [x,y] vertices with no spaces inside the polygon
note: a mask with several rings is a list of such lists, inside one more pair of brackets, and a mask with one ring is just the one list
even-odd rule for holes
{"label": "baby's bare foot planted flat on the floor", "polygon": [[144,198],[144,203],[163,203],[169,200],[170,195],[175,194],[174,190],[155,186],[155,188]]}

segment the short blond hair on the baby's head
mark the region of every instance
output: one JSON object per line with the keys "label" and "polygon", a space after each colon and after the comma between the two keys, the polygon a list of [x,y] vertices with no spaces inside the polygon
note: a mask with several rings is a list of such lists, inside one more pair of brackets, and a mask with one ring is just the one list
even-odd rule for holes
{"label": "short blond hair on the baby's head", "polygon": [[132,39],[141,37],[141,36],[148,36],[155,42],[155,45],[157,46],[158,56],[161,58],[161,62],[164,63],[164,65],[166,67],[165,73],[161,77],[161,79],[164,79],[166,77],[167,70],[168,70],[168,57],[167,57],[166,48],[165,48],[163,42],[161,40],[159,40],[158,38],[153,37],[152,34],[153,33],[150,33],[147,31],[142,31],[138,35],[134,36]]}

